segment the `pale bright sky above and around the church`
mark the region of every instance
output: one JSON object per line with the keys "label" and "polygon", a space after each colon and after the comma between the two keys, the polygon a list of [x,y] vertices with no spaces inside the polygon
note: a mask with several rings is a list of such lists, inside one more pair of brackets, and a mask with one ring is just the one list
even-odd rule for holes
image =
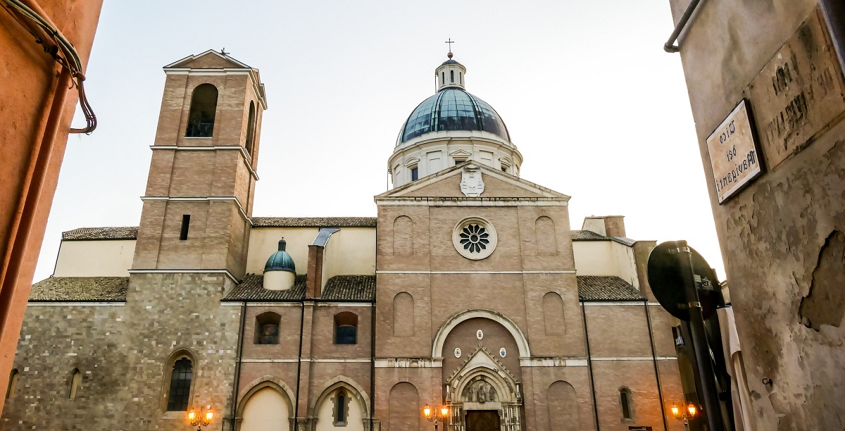
{"label": "pale bright sky above and around the church", "polygon": [[662,50],[672,30],[668,0],[106,1],[85,81],[98,126],[68,139],[35,281],[61,232],[138,226],[166,64],[225,48],[259,68],[253,215],[373,216],[447,39],[521,177],[572,196],[573,229],[624,215],[628,237],[686,239],[723,278],[680,57]]}

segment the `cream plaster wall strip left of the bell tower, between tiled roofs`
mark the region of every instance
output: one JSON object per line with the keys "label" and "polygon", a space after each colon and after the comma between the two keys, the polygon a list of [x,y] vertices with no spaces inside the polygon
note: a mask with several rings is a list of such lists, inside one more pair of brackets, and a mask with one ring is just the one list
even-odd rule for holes
{"label": "cream plaster wall strip left of the bell tower, between tiled roofs", "polygon": [[134,254],[134,239],[63,241],[53,276],[128,277]]}

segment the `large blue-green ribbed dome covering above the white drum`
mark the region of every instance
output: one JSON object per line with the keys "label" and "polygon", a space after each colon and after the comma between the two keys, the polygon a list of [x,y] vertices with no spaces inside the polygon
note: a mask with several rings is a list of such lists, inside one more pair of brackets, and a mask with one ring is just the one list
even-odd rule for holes
{"label": "large blue-green ribbed dome covering above the white drum", "polygon": [[441,130],[482,130],[510,142],[508,128],[493,106],[460,87],[448,86],[411,112],[402,125],[396,145]]}

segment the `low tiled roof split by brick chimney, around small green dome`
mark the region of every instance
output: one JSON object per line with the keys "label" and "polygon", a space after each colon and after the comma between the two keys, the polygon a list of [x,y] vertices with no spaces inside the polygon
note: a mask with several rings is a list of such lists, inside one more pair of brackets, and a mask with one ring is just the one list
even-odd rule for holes
{"label": "low tiled roof split by brick chimney, around small green dome", "polygon": [[[223,301],[298,302],[305,299],[306,276],[297,276],[293,287],[284,291],[264,289],[264,276],[247,274]],[[375,276],[334,276],[326,281],[320,299],[330,301],[373,301]]]}

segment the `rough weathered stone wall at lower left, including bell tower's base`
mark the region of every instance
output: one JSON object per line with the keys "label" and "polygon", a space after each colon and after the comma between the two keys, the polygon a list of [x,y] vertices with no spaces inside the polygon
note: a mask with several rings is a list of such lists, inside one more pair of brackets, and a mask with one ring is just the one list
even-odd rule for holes
{"label": "rough weathered stone wall at lower left, including bell tower's base", "polygon": [[[222,419],[240,325],[240,308],[220,305],[231,287],[221,274],[134,274],[124,305],[28,307],[3,429],[183,427],[185,412],[166,412],[165,387],[165,363],[181,349],[195,359],[190,406]],[[69,400],[74,368],[83,379]]]}

